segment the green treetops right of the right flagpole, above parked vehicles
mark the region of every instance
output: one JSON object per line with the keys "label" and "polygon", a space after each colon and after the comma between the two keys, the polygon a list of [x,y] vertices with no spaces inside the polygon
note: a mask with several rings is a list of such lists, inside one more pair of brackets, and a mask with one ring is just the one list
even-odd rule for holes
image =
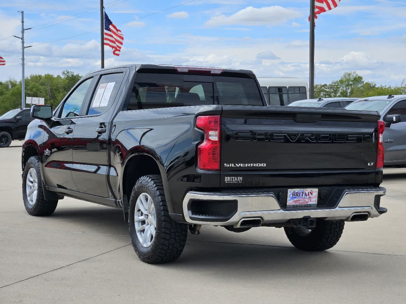
{"label": "green treetops right of the right flagpole, above parked vehicles", "polygon": [[347,72],[339,80],[330,84],[316,83],[315,98],[327,97],[370,97],[406,94],[406,86],[377,86],[376,83],[365,82],[356,72]]}

